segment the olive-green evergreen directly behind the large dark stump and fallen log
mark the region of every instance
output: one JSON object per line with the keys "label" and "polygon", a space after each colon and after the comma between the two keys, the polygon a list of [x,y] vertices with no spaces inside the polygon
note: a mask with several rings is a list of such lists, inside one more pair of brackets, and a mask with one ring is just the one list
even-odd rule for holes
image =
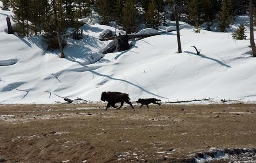
{"label": "olive-green evergreen directly behind the large dark stump and fallen log", "polygon": [[120,22],[123,26],[123,30],[125,30],[127,34],[135,32],[137,27],[135,22],[136,17],[137,10],[135,9],[134,0],[125,0]]}

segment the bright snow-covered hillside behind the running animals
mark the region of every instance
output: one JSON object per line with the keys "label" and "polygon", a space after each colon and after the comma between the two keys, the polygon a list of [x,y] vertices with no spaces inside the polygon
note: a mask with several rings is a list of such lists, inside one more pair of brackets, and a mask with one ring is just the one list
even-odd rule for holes
{"label": "bright snow-covered hillside behind the running animals", "polygon": [[[100,33],[115,28],[87,23],[84,39],[68,38],[66,59],[60,59],[57,50],[45,50],[40,37],[7,34],[10,14],[0,10],[0,104],[62,101],[54,93],[99,101],[102,91],[126,92],[132,101],[151,97],[256,100],[256,59],[250,55],[249,40],[234,40],[231,33],[201,30],[198,34],[185,28],[181,54],[176,33],[171,32],[132,41],[130,50],[100,59],[97,52],[107,44],[98,39]],[[194,45],[202,55],[196,55]]]}

